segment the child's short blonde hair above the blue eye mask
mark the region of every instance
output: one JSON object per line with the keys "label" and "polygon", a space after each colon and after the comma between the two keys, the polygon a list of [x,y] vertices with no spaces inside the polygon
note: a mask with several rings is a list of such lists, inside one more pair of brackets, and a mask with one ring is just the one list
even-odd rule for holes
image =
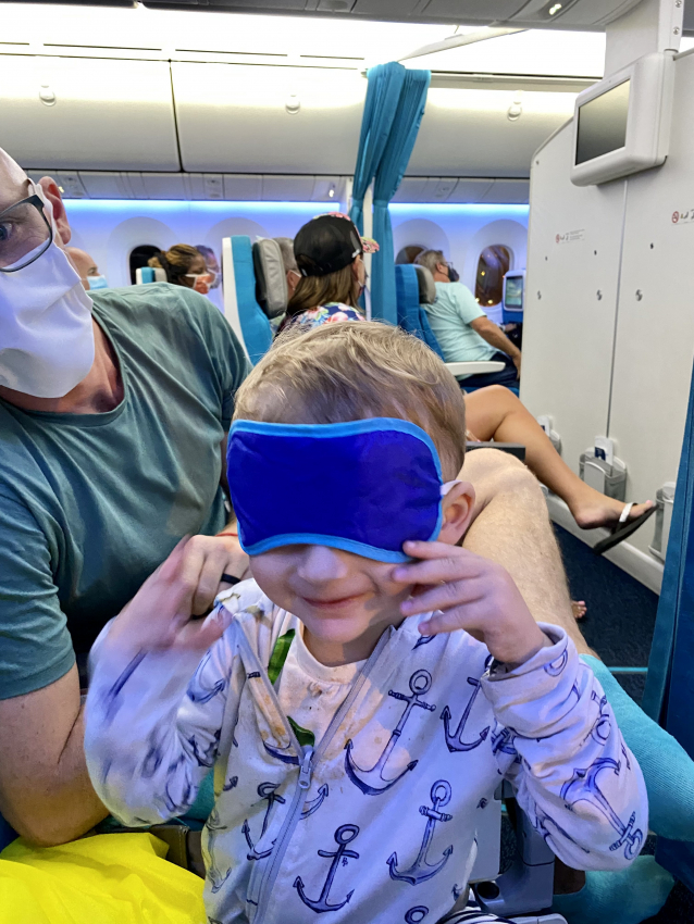
{"label": "child's short blonde hair above the blue eye mask", "polygon": [[466,451],[466,405],[458,383],[429,347],[375,322],[287,332],[244,382],[234,417],[332,424],[398,417],[427,433],[445,480]]}

